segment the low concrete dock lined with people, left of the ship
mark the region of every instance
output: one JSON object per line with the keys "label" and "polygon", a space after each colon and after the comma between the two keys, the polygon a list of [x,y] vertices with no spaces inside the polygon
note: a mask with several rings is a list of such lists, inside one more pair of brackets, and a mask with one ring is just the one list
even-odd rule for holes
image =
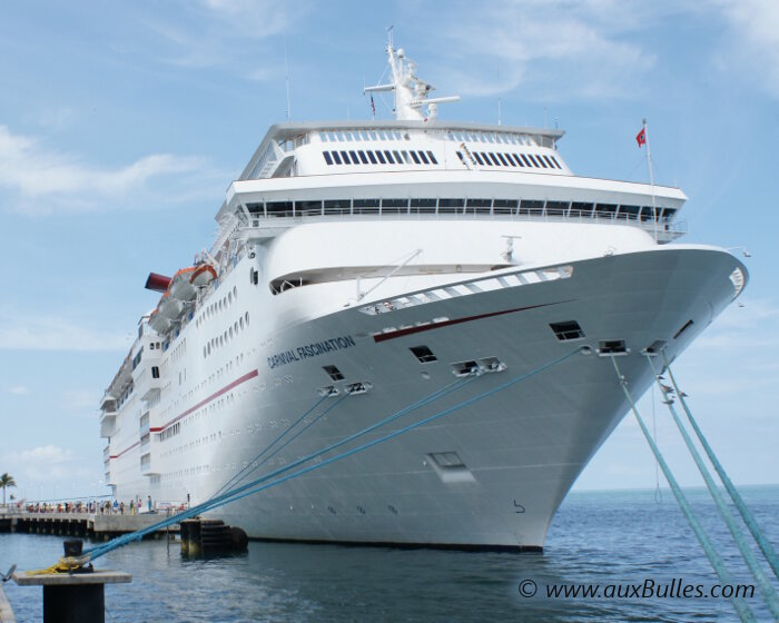
{"label": "low concrete dock lined with people, left of the ship", "polygon": [[[119,534],[149,527],[166,518],[158,513],[139,515],[93,514],[93,513],[14,513],[0,514],[0,532],[22,532],[27,534],[58,534],[89,536],[108,540]],[[170,526],[170,532],[178,532],[179,526]],[[165,528],[157,535],[165,534]]]}

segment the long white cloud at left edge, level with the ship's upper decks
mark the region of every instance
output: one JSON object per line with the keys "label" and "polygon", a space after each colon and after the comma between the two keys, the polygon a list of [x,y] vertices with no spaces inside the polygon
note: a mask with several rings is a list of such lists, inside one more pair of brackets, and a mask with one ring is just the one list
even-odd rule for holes
{"label": "long white cloud at left edge, level with the ship's upper decks", "polygon": [[176,192],[170,188],[167,192],[156,189],[155,182],[165,180],[175,185],[204,178],[210,176],[199,158],[155,154],[125,167],[107,169],[48,149],[36,138],[16,135],[0,126],[0,189],[10,191],[16,199],[12,209],[17,211],[129,208],[148,205],[155,194],[170,202]]}

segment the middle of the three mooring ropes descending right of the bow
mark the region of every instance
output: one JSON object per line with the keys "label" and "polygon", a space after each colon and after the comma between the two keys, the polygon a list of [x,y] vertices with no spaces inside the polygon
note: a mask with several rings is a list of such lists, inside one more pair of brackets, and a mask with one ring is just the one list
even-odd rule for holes
{"label": "middle of the three mooring ropes descending right of the bow", "polygon": [[670,392],[671,388],[665,387],[662,383],[660,383],[660,375],[654,369],[654,364],[652,364],[652,359],[649,354],[647,355],[647,360],[649,362],[649,366],[652,368],[652,373],[654,374],[654,380],[657,382],[658,386],[660,387],[660,392],[662,392],[665,398],[664,402],[668,405],[668,409],[671,412],[671,417],[673,417],[673,422],[676,422],[677,427],[679,428],[679,433],[681,434],[682,439],[684,439],[684,444],[687,445],[688,451],[690,451],[690,455],[696,462],[698,471],[701,473],[701,476],[706,482],[706,486],[709,490],[709,493],[711,493],[711,497],[714,501],[714,504],[717,504],[717,508],[719,510],[722,520],[727,524],[728,530],[730,531],[730,534],[732,535],[733,541],[736,542],[736,545],[739,548],[739,552],[741,552],[743,561],[749,567],[749,571],[752,573],[752,576],[758,583],[758,586],[760,587],[760,591],[763,594],[768,609],[771,611],[773,617],[777,621],[779,621],[779,602],[777,601],[777,594],[773,590],[773,586],[771,585],[771,581],[766,576],[762,568],[760,568],[760,563],[758,562],[752,551],[749,548],[749,545],[745,540],[745,535],[741,532],[741,528],[738,526],[738,524],[736,523],[736,518],[726,505],[719,488],[717,488],[717,483],[714,483],[714,479],[711,477],[709,469],[703,463],[703,458],[701,457],[700,453],[692,443],[692,439],[690,438],[690,435],[688,434],[681,419],[679,418],[679,415],[677,415],[677,409],[673,408],[673,398]]}

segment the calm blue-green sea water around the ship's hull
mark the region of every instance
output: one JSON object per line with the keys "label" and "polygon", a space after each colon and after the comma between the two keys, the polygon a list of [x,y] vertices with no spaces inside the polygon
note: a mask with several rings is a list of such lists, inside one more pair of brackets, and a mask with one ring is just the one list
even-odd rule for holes
{"label": "calm blue-green sea water around the ship's hull", "polygon": [[[779,487],[741,492],[779,547]],[[687,493],[736,580],[751,583],[708,494]],[[0,571],[48,566],[61,541],[0,534]],[[659,504],[651,491],[569,495],[542,554],[250,543],[245,555],[186,561],[178,544],[168,553],[165,541],[151,541],[97,566],[132,574],[131,584],[107,587],[107,621],[737,621],[723,599],[521,596],[524,580],[539,594],[552,583],[717,584],[668,491]],[[4,590],[18,621],[41,620],[41,589]],[[747,603],[758,621],[772,621],[757,589]]]}

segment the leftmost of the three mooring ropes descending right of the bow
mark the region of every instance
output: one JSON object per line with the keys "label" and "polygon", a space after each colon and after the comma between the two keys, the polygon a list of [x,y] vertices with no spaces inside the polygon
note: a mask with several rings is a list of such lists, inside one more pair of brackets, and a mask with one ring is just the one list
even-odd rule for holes
{"label": "leftmost of the three mooring ropes descending right of the bow", "polygon": [[[709,558],[711,566],[714,567],[714,572],[717,573],[717,577],[719,577],[719,580],[722,584],[733,584],[733,578],[730,575],[730,572],[724,566],[724,561],[719,555],[719,553],[717,552],[714,546],[711,544],[709,536],[706,534],[703,526],[700,524],[700,521],[698,520],[694,512],[692,511],[692,507],[690,506],[689,501],[687,500],[687,497],[682,493],[682,490],[679,486],[679,483],[677,483],[676,477],[671,473],[671,468],[668,466],[668,463],[665,463],[665,458],[663,457],[662,453],[660,452],[660,448],[658,448],[657,444],[654,443],[654,439],[652,439],[652,435],[649,433],[649,429],[647,428],[647,425],[644,424],[643,418],[639,414],[639,409],[637,408],[635,403],[633,402],[633,398],[630,395],[630,390],[628,389],[628,379],[624,377],[624,375],[622,374],[622,370],[620,370],[620,367],[617,364],[617,357],[614,357],[612,355],[611,362],[612,362],[612,364],[614,364],[614,372],[617,373],[617,377],[620,382],[620,385],[622,386],[622,392],[624,393],[625,398],[628,398],[628,403],[630,404],[630,408],[633,412],[633,415],[635,416],[635,419],[638,421],[639,426],[641,427],[641,432],[643,433],[643,436],[647,439],[647,443],[649,444],[649,447],[651,448],[652,454],[654,454],[654,458],[660,464],[660,468],[662,469],[662,473],[665,476],[665,479],[668,481],[668,484],[670,485],[671,491],[673,492],[673,496],[677,498],[677,502],[679,503],[679,507],[681,508],[682,513],[687,517],[687,521],[690,524],[692,532],[698,537],[698,541],[701,544],[701,547],[703,547],[703,552],[706,552],[706,556]],[[733,597],[731,597],[730,601],[732,602],[733,607],[736,609],[736,612],[738,613],[741,623],[753,623],[756,621],[755,614],[752,614],[752,611],[743,602],[743,600],[733,596]]]}

